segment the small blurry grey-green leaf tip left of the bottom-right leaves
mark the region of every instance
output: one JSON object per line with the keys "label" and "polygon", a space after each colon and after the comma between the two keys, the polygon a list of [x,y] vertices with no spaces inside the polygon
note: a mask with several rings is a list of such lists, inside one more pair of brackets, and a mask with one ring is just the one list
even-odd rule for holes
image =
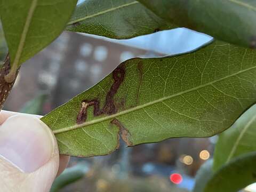
{"label": "small blurry grey-green leaf tip left of the bottom-right leaves", "polygon": [[196,181],[193,192],[203,192],[207,182],[213,175],[213,159],[206,161],[196,173]]}

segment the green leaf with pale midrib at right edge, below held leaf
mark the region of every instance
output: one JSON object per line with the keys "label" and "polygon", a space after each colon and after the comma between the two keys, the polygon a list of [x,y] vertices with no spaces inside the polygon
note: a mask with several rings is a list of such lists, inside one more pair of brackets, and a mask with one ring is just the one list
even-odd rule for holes
{"label": "green leaf with pale midrib at right edge, below held leaf", "polygon": [[220,134],[214,151],[213,170],[239,155],[256,151],[256,105],[245,111],[234,125]]}

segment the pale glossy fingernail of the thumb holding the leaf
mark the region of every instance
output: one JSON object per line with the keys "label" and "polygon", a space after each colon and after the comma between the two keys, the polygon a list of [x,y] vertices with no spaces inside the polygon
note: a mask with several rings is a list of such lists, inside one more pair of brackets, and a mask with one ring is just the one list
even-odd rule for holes
{"label": "pale glossy fingernail of the thumb holding the leaf", "polygon": [[41,120],[15,115],[0,127],[0,156],[23,172],[34,172],[54,153],[53,135]]}

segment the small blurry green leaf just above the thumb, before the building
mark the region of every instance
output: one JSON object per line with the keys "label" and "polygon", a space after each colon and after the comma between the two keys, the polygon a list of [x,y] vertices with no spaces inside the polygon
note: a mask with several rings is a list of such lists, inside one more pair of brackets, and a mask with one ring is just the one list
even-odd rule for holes
{"label": "small blurry green leaf just above the thumb, before the building", "polygon": [[48,94],[39,93],[33,100],[25,103],[25,105],[20,109],[20,113],[41,115],[43,105],[47,98]]}

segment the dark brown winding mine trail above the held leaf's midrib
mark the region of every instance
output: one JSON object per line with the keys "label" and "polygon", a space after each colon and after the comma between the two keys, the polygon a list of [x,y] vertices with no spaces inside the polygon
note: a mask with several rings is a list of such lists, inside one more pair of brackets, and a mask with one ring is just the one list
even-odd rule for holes
{"label": "dark brown winding mine trail above the held leaf's midrib", "polygon": [[124,65],[119,65],[112,73],[114,83],[111,85],[110,90],[106,95],[105,105],[100,109],[100,103],[98,99],[84,100],[82,102],[81,110],[77,115],[77,124],[84,123],[87,118],[87,108],[90,106],[94,107],[93,115],[99,116],[102,114],[113,115],[117,112],[117,107],[115,106],[114,96],[117,93],[120,85],[124,81],[125,68]]}

